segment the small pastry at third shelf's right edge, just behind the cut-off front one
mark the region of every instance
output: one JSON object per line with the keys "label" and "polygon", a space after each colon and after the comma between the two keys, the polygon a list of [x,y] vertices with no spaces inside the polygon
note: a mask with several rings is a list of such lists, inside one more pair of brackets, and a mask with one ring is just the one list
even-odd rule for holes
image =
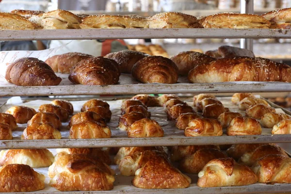
{"label": "small pastry at third shelf's right edge, just behind the cut-off front one", "polygon": [[291,116],[285,113],[266,113],[261,117],[260,123],[265,128],[273,128],[274,125],[285,119],[291,119]]}

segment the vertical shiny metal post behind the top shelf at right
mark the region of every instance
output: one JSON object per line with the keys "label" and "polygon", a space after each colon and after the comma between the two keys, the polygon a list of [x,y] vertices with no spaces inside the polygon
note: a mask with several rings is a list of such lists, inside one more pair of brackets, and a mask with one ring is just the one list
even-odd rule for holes
{"label": "vertical shiny metal post behind the top shelf at right", "polygon": [[[254,0],[241,0],[241,13],[254,14]],[[253,39],[241,38],[241,48],[253,50]]]}

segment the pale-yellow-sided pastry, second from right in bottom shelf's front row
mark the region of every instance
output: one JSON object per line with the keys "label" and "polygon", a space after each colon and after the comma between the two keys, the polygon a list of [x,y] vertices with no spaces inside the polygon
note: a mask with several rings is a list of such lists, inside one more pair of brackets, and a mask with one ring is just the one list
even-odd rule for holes
{"label": "pale-yellow-sided pastry, second from right in bottom shelf's front row", "polygon": [[254,184],[255,173],[247,166],[238,164],[232,158],[214,159],[198,173],[198,187],[224,187]]}

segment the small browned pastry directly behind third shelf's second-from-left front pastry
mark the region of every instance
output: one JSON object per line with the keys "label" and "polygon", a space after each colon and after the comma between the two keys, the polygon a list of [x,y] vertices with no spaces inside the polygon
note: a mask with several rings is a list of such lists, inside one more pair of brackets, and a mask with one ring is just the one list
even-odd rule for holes
{"label": "small browned pastry directly behind third shelf's second-from-left front pastry", "polygon": [[30,127],[34,123],[51,124],[56,129],[61,129],[62,127],[62,122],[56,113],[36,113],[28,121],[27,126]]}

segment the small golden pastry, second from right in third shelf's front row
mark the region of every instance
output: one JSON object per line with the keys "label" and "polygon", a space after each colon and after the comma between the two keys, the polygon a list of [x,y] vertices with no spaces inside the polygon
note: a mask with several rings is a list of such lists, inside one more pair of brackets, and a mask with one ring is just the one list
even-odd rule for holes
{"label": "small golden pastry, second from right in third shelf's front row", "polygon": [[259,121],[243,116],[232,119],[226,130],[227,135],[260,135],[261,132]]}

